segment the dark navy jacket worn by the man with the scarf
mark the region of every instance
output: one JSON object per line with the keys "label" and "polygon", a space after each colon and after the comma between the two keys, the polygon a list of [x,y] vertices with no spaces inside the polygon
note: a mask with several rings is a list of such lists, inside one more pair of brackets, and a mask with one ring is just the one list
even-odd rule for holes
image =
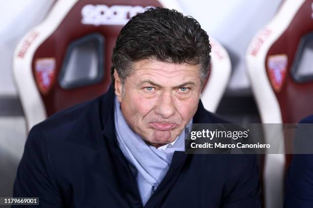
{"label": "dark navy jacket worn by the man with the scarf", "polygon": [[[15,197],[41,207],[143,207],[114,126],[114,90],[35,125],[14,183]],[[202,102],[194,123],[221,123]],[[174,152],[144,207],[260,207],[255,155]],[[34,207],[38,207],[34,206]]]}

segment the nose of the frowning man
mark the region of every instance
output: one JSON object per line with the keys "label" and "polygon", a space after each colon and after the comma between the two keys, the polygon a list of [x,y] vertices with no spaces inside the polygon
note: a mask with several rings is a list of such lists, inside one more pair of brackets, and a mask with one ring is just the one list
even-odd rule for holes
{"label": "nose of the frowning man", "polygon": [[167,119],[173,116],[175,111],[176,109],[171,92],[161,93],[155,112],[161,115],[163,119]]}

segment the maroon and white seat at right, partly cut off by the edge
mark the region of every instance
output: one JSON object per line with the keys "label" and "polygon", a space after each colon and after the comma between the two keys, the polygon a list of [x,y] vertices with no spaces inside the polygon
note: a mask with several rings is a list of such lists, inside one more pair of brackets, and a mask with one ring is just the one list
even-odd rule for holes
{"label": "maroon and white seat at right, partly cut off by the edge", "polygon": [[[286,0],[247,49],[247,70],[262,123],[298,123],[313,113],[312,8],[311,1]],[[282,132],[281,125],[275,128]],[[264,131],[265,140],[270,134]],[[282,207],[284,172],[291,158],[285,153],[291,147],[285,135],[281,154],[265,155],[266,208]]]}

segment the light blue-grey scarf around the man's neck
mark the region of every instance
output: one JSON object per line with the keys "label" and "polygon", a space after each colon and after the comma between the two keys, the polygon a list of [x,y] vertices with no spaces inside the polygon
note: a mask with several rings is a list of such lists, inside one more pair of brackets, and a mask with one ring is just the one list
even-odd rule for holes
{"label": "light blue-grey scarf around the man's neck", "polygon": [[[164,150],[146,144],[124,119],[120,102],[115,97],[115,131],[119,147],[136,177],[142,203],[145,205],[167,173],[174,151],[185,150],[184,131]],[[190,121],[192,123],[192,119]]]}

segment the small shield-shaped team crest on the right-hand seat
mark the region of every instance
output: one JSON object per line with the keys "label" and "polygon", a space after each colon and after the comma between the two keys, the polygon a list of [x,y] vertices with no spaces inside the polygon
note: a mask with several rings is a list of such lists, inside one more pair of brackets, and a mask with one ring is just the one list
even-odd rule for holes
{"label": "small shield-shaped team crest on the right-hand seat", "polygon": [[267,73],[275,92],[279,92],[286,77],[287,55],[270,56],[267,59]]}

